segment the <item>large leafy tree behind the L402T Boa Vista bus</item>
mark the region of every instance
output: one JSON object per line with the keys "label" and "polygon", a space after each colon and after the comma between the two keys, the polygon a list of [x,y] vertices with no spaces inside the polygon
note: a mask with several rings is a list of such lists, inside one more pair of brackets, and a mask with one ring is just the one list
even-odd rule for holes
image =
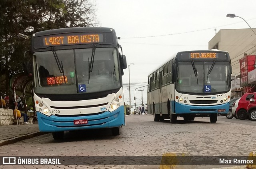
{"label": "large leafy tree behind the L402T Boa Vista bus", "polygon": [[0,76],[9,91],[12,75],[23,71],[24,52],[34,32],[97,26],[89,0],[0,0]]}

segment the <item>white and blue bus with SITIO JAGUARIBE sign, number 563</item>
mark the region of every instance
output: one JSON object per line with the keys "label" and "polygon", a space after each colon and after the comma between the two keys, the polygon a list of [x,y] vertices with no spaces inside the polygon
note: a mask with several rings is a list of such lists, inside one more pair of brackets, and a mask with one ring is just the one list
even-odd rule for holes
{"label": "white and blue bus with SITIO JAGUARIBE sign, number 563", "polygon": [[185,121],[228,113],[232,68],[228,52],[178,52],[148,76],[148,111],[154,121]]}

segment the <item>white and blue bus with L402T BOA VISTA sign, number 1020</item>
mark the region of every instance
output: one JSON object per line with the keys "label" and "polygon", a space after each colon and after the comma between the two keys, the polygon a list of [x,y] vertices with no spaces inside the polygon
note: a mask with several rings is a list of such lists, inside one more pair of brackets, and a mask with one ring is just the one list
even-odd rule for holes
{"label": "white and blue bus with L402T BOA VISTA sign, number 1020", "polygon": [[112,28],[62,28],[32,35],[33,89],[40,131],[111,128],[124,121],[126,57]]}

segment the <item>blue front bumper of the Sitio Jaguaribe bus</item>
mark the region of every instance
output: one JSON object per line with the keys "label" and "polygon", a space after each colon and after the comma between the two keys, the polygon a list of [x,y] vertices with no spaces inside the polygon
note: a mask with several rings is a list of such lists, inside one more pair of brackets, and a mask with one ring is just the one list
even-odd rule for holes
{"label": "blue front bumper of the Sitio Jaguaribe bus", "polygon": [[[224,111],[225,109],[225,111]],[[183,113],[228,113],[229,103],[224,103],[220,105],[187,105],[182,103],[175,102],[175,113],[176,114],[183,114]],[[219,110],[219,111],[218,111]]]}

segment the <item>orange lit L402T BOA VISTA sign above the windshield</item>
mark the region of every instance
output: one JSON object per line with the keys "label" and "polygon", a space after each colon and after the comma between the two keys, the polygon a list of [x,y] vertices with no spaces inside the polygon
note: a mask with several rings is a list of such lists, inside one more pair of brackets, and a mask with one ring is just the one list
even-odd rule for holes
{"label": "orange lit L402T BOA VISTA sign above the windshield", "polygon": [[104,42],[102,34],[83,34],[44,37],[44,46],[72,45],[72,44],[90,44]]}

